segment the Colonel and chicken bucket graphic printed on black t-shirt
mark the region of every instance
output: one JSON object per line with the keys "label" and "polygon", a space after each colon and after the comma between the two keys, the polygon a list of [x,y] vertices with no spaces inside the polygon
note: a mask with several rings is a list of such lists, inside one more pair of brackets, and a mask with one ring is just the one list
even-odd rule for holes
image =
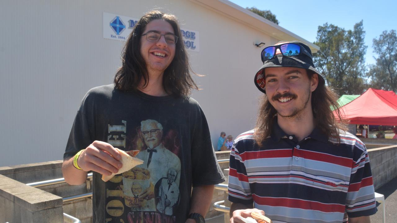
{"label": "Colonel and chicken bucket graphic printed on black t-shirt", "polygon": [[[127,135],[127,122],[122,123],[123,126],[108,127]],[[174,129],[164,132],[162,124],[153,119],[141,121],[134,130],[131,142],[128,137],[127,142],[108,137],[110,144],[131,144],[128,147],[132,150],[140,150],[136,157],[143,160],[143,164],[106,183],[106,222],[173,223],[180,199],[179,134]]]}

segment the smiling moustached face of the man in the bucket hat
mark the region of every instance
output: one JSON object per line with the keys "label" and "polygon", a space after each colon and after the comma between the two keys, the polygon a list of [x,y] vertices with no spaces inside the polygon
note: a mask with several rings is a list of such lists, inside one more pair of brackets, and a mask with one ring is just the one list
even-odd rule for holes
{"label": "smiling moustached face of the man in the bucket hat", "polygon": [[298,118],[312,114],[311,94],[318,76],[309,79],[306,70],[295,67],[265,68],[266,95],[281,117]]}

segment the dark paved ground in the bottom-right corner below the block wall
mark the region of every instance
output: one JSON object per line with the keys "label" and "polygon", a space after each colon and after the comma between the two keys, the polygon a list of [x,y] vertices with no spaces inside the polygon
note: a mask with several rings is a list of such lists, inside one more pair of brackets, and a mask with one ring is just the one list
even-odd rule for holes
{"label": "dark paved ground in the bottom-right corner below the block wall", "polygon": [[[397,222],[397,177],[389,181],[389,183],[383,185],[381,188],[376,190],[377,193],[385,196],[385,208],[386,208],[386,223]],[[378,208],[378,212],[372,215],[371,223],[382,223],[381,210]]]}

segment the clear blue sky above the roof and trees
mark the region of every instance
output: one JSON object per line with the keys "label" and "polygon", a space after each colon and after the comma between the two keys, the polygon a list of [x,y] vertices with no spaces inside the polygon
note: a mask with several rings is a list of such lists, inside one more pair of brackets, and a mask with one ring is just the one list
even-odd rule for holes
{"label": "clear blue sky above the roof and trees", "polygon": [[270,10],[279,25],[296,35],[314,42],[319,25],[328,24],[353,29],[363,20],[365,45],[368,46],[366,63],[375,63],[372,39],[384,30],[397,30],[397,1],[392,0],[229,0],[243,8],[255,6]]}

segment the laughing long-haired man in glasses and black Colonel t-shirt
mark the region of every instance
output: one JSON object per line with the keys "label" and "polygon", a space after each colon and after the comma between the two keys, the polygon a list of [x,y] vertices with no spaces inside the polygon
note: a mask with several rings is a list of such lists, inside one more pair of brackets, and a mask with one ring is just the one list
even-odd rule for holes
{"label": "laughing long-haired man in glasses and black Colonel t-shirt", "polygon": [[[83,98],[64,154],[67,183],[85,183],[93,171],[94,223],[204,221],[224,176],[191,89],[197,85],[177,18],[145,13],[125,44],[114,84]],[[104,182],[101,175],[122,167],[116,148],[140,150],[143,164]],[[164,186],[170,172],[175,179]]]}

